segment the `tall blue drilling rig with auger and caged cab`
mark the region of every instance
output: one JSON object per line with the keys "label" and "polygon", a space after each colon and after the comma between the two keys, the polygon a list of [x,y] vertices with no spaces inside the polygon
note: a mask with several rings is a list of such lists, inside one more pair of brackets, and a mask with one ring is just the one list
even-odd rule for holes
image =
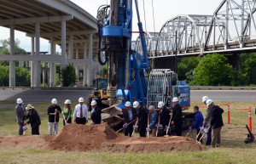
{"label": "tall blue drilling rig with auger and caged cab", "polygon": [[[146,71],[149,71],[150,65],[145,32],[137,0],[135,6],[139,31],[132,31],[132,2],[133,0],[111,0],[110,5],[102,5],[97,12],[98,61],[101,65],[108,62],[108,100],[102,103],[109,107],[102,110],[108,113],[102,119],[103,122],[119,116],[122,109],[125,109],[126,101],[131,101],[131,104],[138,101],[140,105],[154,105],[157,109],[157,103],[161,100],[167,108],[172,108],[172,98],[177,96],[183,110],[190,105],[189,86],[185,82],[178,82],[173,71],[153,70],[147,82]],[[131,34],[134,32],[140,35],[143,54],[131,50]]]}

